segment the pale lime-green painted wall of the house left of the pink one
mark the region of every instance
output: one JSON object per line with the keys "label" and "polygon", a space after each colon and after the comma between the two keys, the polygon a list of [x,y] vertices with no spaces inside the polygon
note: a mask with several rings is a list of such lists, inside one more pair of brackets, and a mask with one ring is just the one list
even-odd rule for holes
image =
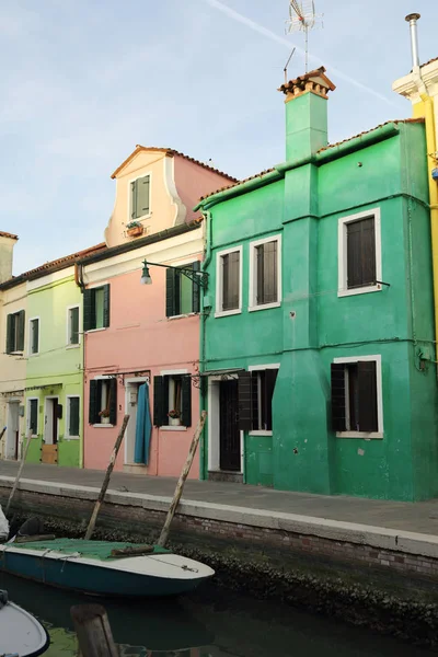
{"label": "pale lime-green painted wall of the house left of the pink one", "polygon": [[[27,326],[32,318],[39,318],[39,353],[27,354],[26,364],[26,414],[27,400],[38,399],[38,435],[32,439],[27,460],[39,462],[45,430],[45,400],[57,396],[62,405],[62,417],[58,420],[58,465],[81,466],[83,437],[83,348],[82,339],[78,346],[68,346],[68,308],[82,308],[81,292],[73,276],[59,273],[57,280],[47,284],[39,279],[39,286],[31,285],[27,291]],[[46,285],[44,285],[46,283]],[[81,310],[80,310],[81,316]],[[80,321],[81,326],[81,321]],[[69,438],[67,429],[67,396],[80,396],[80,439]],[[27,426],[27,423],[26,423]]]}

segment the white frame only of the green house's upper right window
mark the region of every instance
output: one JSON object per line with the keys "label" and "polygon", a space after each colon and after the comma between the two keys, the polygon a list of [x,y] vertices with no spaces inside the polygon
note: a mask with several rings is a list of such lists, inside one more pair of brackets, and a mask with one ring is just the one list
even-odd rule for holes
{"label": "white frame only of the green house's upper right window", "polygon": [[376,240],[376,279],[382,280],[382,240],[381,240],[381,212],[380,208],[372,208],[357,215],[341,217],[337,223],[337,296],[351,297],[354,295],[366,295],[368,292],[379,292],[382,286],[368,285],[360,288],[348,289],[347,280],[347,226],[360,219],[373,217],[374,219],[374,240]]}

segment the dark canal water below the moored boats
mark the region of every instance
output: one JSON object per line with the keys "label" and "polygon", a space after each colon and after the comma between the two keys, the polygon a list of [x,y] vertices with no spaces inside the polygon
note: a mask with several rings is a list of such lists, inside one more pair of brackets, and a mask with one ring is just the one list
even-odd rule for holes
{"label": "dark canal water below the moored boats", "polygon": [[[0,588],[51,637],[47,657],[77,657],[70,607],[96,598],[0,574]],[[123,657],[428,657],[436,653],[214,586],[177,600],[102,602]]]}

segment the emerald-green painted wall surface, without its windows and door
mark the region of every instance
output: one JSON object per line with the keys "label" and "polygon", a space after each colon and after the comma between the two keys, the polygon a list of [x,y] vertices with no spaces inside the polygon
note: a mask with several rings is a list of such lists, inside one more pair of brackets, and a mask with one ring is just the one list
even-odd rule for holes
{"label": "emerald-green painted wall surface, without its windows and door", "polygon": [[[419,350],[436,360],[426,146],[423,125],[399,128],[395,137],[292,169],[210,208],[204,367],[280,364],[273,436],[244,436],[249,484],[404,500],[438,494],[436,368],[419,360]],[[372,208],[381,212],[390,287],[338,297],[338,219]],[[250,241],[270,234],[281,234],[283,302],[249,313]],[[243,247],[242,313],[215,318],[216,253],[232,245]],[[370,355],[382,362],[384,437],[337,438],[330,428],[331,364]]]}

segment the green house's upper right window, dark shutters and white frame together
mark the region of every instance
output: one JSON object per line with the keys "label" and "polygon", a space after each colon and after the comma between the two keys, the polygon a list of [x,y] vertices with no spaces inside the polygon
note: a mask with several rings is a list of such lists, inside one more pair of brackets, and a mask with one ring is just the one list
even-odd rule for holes
{"label": "green house's upper right window, dark shutters and white frame together", "polygon": [[380,210],[339,219],[338,296],[381,289]]}

